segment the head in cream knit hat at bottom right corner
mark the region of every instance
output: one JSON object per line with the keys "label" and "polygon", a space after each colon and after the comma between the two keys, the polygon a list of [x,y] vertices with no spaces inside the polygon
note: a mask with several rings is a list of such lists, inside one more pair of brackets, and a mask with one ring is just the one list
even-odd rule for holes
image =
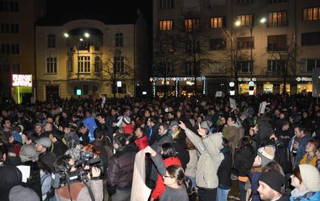
{"label": "head in cream knit hat at bottom right corner", "polygon": [[303,164],[295,167],[290,178],[292,187],[312,192],[320,191],[320,174],[313,165]]}

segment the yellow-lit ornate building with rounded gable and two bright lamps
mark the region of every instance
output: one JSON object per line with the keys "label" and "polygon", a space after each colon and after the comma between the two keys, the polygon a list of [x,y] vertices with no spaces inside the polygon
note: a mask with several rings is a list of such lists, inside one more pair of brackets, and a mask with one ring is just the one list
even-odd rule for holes
{"label": "yellow-lit ornate building with rounded gable and two bright lamps", "polygon": [[142,13],[123,21],[43,19],[36,25],[37,98],[123,97],[149,84]]}

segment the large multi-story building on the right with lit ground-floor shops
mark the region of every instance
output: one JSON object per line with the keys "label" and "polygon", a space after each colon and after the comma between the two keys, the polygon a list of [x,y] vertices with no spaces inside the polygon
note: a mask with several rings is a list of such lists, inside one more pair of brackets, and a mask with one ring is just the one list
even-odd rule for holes
{"label": "large multi-story building on the right with lit ground-floor shops", "polygon": [[[164,85],[172,95],[192,93],[195,83],[199,91],[214,94],[226,90],[231,81],[237,82],[239,93],[248,93],[249,81],[255,82],[255,93],[279,93],[284,80],[290,94],[312,91],[312,69],[320,67],[320,1],[154,1],[154,38],[183,38],[199,29],[205,37],[192,47],[204,58],[198,60],[198,71],[192,62],[176,62],[183,54],[172,56],[174,64],[164,68],[166,82],[158,74],[150,79],[154,95],[162,95]],[[190,44],[176,43],[169,51],[184,46],[184,53],[189,52]]]}

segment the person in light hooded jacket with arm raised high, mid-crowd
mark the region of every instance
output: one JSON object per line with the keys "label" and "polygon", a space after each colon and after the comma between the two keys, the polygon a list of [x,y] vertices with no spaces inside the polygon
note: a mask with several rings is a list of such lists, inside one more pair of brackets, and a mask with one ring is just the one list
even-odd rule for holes
{"label": "person in light hooded jacket with arm raised high, mid-crowd", "polygon": [[195,134],[180,121],[180,128],[186,132],[193,145],[200,152],[197,165],[195,182],[198,186],[198,198],[200,201],[215,200],[219,179],[217,169],[224,160],[224,154],[220,152],[222,137],[218,133],[211,133],[209,129],[202,128],[199,123],[198,134]]}

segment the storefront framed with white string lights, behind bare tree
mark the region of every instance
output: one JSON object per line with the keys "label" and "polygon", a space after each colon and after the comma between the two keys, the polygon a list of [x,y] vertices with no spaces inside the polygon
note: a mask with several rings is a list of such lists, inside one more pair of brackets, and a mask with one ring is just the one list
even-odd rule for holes
{"label": "storefront framed with white string lights, behind bare tree", "polygon": [[195,84],[198,95],[206,93],[206,78],[203,76],[197,77],[196,83],[194,77],[167,77],[165,79],[153,77],[150,78],[150,81],[152,82],[153,97],[163,97],[166,91],[168,96],[192,96],[195,95]]}

